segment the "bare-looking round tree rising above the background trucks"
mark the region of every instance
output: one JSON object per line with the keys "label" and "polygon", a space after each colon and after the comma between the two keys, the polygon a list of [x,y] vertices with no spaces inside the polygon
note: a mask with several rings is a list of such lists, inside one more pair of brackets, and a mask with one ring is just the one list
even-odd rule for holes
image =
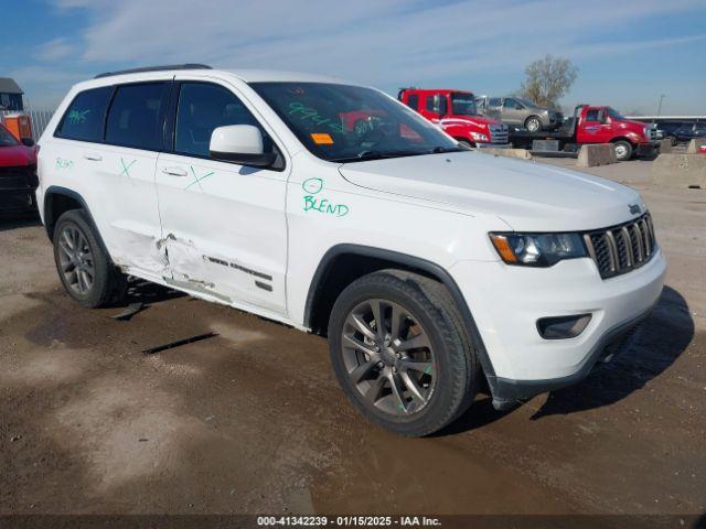
{"label": "bare-looking round tree rising above the background trucks", "polygon": [[545,107],[557,108],[569,91],[578,68],[568,58],[546,55],[525,68],[526,78],[520,89],[523,97]]}

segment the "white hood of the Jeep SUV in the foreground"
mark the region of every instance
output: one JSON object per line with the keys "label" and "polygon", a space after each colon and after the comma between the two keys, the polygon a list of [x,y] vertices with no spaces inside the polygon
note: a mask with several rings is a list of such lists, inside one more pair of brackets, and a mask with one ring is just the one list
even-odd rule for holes
{"label": "white hood of the Jeep SUV in the foreground", "polygon": [[500,217],[516,231],[580,231],[625,223],[644,212],[624,185],[542,163],[479,151],[343,164],[352,184]]}

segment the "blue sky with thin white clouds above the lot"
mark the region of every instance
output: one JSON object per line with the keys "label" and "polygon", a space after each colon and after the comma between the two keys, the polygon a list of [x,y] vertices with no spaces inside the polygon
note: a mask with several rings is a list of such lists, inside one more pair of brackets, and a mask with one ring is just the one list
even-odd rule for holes
{"label": "blue sky with thin white clouds above the lot", "polygon": [[201,62],[400,86],[516,90],[547,53],[564,98],[625,112],[706,115],[705,0],[0,0],[0,76],[53,108],[96,73]]}

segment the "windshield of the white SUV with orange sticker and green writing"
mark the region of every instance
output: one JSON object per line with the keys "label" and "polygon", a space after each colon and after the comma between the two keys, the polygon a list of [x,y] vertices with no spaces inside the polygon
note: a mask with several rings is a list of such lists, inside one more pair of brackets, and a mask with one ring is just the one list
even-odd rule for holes
{"label": "windshield of the white SUV with orange sticker and green writing", "polygon": [[372,88],[329,83],[250,86],[323,160],[355,162],[464,150],[417,112]]}

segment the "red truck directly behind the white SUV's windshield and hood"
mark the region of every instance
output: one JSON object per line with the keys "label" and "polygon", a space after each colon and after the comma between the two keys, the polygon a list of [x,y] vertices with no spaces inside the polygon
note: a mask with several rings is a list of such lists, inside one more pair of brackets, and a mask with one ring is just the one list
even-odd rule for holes
{"label": "red truck directly behind the white SUV's windshield and hood", "polygon": [[403,88],[397,98],[466,145],[507,145],[507,126],[481,116],[470,91]]}

